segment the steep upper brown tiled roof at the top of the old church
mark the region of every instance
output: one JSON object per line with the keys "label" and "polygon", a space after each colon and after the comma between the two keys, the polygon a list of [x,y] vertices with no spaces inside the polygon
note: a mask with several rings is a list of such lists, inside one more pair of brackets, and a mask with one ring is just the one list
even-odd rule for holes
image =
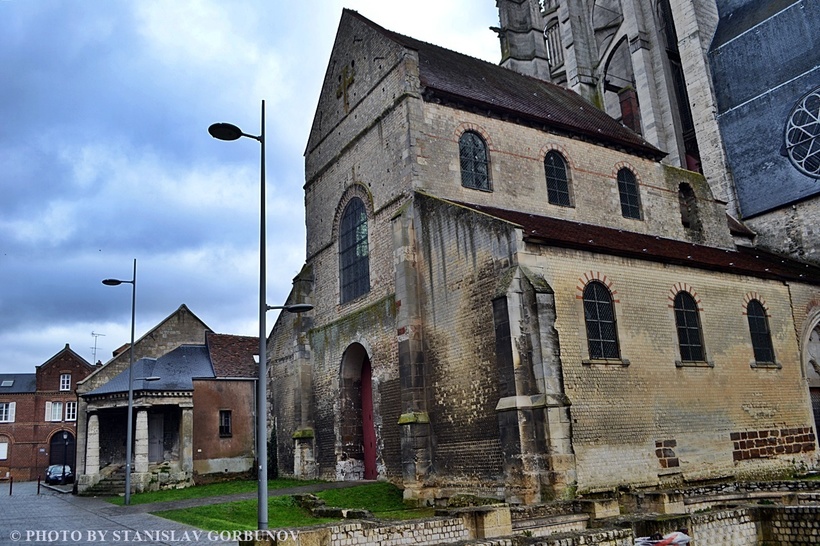
{"label": "steep upper brown tiled roof at the top of the old church", "polygon": [[478,106],[644,156],[659,159],[666,155],[569,89],[397,34],[355,11],[345,12],[418,52],[425,96]]}

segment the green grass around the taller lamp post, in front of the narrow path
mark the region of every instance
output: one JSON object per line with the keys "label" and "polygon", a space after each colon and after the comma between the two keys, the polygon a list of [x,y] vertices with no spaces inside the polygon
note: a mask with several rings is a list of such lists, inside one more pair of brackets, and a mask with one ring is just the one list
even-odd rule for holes
{"label": "green grass around the taller lamp post, in front of the narrow path", "polygon": [[[430,517],[434,509],[408,509],[402,501],[401,489],[395,485],[378,482],[346,489],[328,489],[316,496],[325,500],[327,506],[338,508],[364,508],[374,516],[383,519],[414,519]],[[133,499],[133,497],[132,497]],[[234,531],[256,529],[256,500],[238,501],[166,510],[155,515],[193,525],[207,531]],[[268,526],[270,529],[307,527],[321,523],[338,521],[328,518],[314,518],[307,510],[297,506],[290,496],[268,499]]]}

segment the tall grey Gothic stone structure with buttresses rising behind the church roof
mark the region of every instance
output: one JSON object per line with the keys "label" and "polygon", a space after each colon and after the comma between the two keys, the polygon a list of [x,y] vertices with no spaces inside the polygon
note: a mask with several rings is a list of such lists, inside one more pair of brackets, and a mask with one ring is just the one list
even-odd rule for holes
{"label": "tall grey Gothic stone structure with buttresses rising behind the church roof", "polygon": [[576,91],[664,150],[665,163],[703,173],[735,212],[707,59],[714,0],[496,3],[502,66]]}

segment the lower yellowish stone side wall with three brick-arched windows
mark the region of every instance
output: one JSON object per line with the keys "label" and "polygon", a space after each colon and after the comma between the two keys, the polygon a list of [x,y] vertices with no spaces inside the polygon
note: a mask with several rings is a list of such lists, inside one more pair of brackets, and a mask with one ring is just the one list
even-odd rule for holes
{"label": "lower yellowish stone side wall with three brick-arched windows", "polygon": [[[734,457],[732,433],[811,426],[788,286],[573,250],[531,250],[523,265],[555,290],[579,491],[760,476],[795,462],[811,464],[816,443],[805,434],[805,443],[812,444],[805,452],[801,447],[765,458]],[[589,360],[580,298],[592,279],[614,295],[619,362]],[[671,300],[679,290],[698,302],[707,358],[702,366],[676,365]],[[780,368],[751,365],[743,313],[750,295],[767,310]]]}

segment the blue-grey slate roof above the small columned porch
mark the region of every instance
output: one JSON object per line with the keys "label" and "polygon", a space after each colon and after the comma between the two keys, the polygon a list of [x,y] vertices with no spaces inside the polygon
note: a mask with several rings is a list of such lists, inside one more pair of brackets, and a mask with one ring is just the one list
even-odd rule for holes
{"label": "blue-grey slate roof above the small columned porch", "polygon": [[[141,358],[134,362],[135,391],[193,391],[195,378],[212,378],[214,369],[204,345],[181,345],[159,358]],[[145,381],[145,377],[159,377]],[[99,396],[128,391],[128,368],[106,384],[83,396]]]}

